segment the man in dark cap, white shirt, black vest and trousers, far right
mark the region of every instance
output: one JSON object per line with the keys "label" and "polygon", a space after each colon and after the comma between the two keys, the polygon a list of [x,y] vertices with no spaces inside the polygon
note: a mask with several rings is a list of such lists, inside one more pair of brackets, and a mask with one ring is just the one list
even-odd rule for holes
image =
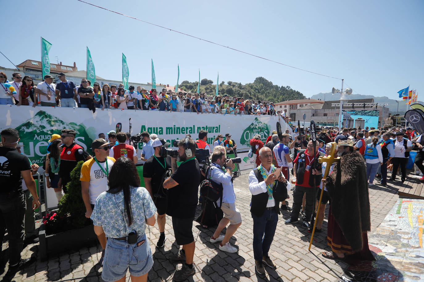
{"label": "man in dark cap, white shirt, black vest and trousers, far right", "polygon": [[393,170],[392,177],[390,180],[396,180],[396,172],[399,169],[402,172],[401,181],[405,182],[406,179],[406,164],[409,159],[409,152],[412,150],[411,140],[404,138],[404,134],[400,131],[396,132],[396,142],[395,142],[395,156],[392,158]]}

